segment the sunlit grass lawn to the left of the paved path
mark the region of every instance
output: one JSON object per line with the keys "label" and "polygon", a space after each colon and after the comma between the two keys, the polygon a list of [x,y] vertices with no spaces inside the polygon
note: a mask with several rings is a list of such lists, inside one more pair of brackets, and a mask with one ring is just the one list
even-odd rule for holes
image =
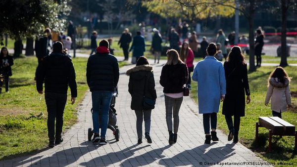
{"label": "sunlit grass lawn to the left of the paved path", "polygon": [[[79,57],[72,59],[78,96],[74,105],[71,105],[70,90],[68,91],[63,130],[76,123],[76,109],[89,88],[86,84],[87,60]],[[125,63],[119,62],[119,65],[123,66]],[[35,56],[15,59],[9,92],[0,94],[0,160],[42,150],[48,146],[47,109],[44,94],[39,94],[36,90],[36,66]],[[44,116],[34,117],[41,113]]]}

